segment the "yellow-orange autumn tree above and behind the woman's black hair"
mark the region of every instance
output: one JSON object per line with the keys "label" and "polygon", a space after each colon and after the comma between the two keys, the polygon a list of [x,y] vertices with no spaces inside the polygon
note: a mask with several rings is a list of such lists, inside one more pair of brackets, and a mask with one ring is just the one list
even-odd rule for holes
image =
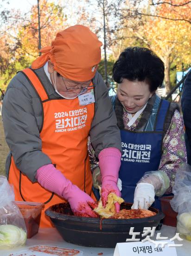
{"label": "yellow-orange autumn tree above and behind the woman's black hair", "polygon": [[182,63],[185,66],[191,65],[191,4],[187,1],[185,5],[183,0],[167,0],[166,2],[171,4],[157,1],[158,4],[152,7],[153,1],[149,1],[150,5],[138,8],[140,2],[142,1],[136,1],[137,6],[134,8],[128,4],[122,10],[123,17],[127,19],[123,20],[121,45],[123,48],[144,46],[158,54],[165,63],[165,85],[166,92],[169,93],[172,63],[176,63],[177,68],[180,68]]}

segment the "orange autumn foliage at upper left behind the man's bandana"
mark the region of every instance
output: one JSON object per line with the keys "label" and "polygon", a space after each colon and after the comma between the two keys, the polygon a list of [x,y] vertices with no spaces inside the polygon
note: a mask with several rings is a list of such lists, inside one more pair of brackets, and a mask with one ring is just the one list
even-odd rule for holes
{"label": "orange autumn foliage at upper left behind the man's bandana", "polygon": [[[40,7],[40,33],[41,48],[51,45],[51,41],[57,32],[63,30],[66,26],[66,18],[63,15],[62,8],[53,2],[41,0]],[[33,6],[30,20],[20,27],[19,39],[22,45],[21,52],[38,56],[38,8]]]}

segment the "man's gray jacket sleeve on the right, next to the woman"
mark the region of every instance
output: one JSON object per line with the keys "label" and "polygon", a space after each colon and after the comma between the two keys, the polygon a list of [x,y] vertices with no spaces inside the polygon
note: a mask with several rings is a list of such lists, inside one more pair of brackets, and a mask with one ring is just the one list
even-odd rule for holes
{"label": "man's gray jacket sleeve on the right, next to the woman", "polygon": [[117,120],[111,100],[108,96],[102,76],[96,72],[93,80],[95,88],[95,115],[91,124],[90,138],[96,157],[104,148],[118,148],[121,150],[121,135],[117,127]]}

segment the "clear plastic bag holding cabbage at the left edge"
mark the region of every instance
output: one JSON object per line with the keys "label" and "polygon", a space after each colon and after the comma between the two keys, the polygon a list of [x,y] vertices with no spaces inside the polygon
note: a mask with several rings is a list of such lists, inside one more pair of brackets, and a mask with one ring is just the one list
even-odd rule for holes
{"label": "clear plastic bag holding cabbage at the left edge", "polygon": [[24,245],[26,226],[14,203],[14,191],[5,176],[0,175],[0,249]]}

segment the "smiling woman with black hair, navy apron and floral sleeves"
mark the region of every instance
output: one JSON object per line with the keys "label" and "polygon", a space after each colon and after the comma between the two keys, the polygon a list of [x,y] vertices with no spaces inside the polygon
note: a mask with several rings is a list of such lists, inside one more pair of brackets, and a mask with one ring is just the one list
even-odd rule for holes
{"label": "smiling woman with black hair, navy apron and floral sleeves", "polygon": [[[156,94],[164,69],[160,58],[143,47],[127,47],[113,67],[118,90],[111,101],[121,130],[121,196],[134,203],[133,209],[160,208],[158,196],[172,193],[176,171],[187,161],[178,105]],[[96,187],[98,168],[93,178]]]}

